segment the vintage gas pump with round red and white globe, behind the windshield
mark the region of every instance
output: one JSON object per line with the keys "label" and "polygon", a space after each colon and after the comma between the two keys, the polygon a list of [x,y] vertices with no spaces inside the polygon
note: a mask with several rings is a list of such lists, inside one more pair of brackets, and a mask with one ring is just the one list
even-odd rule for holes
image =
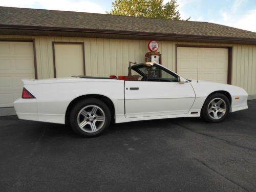
{"label": "vintage gas pump with round red and white globe, behind the windshield", "polygon": [[161,53],[157,52],[159,44],[156,40],[148,42],[147,48],[150,52],[145,54],[145,62],[157,62],[161,64]]}

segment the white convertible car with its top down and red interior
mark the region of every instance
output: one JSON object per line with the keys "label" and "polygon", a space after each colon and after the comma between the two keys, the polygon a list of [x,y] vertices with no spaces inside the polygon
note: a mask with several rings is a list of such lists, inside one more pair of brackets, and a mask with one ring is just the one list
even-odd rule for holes
{"label": "white convertible car with its top down and red interior", "polygon": [[[247,109],[242,88],[187,80],[157,63],[131,67],[137,76],[74,76],[24,79],[14,102],[19,119],[70,123],[75,133],[92,137],[115,123],[202,116],[220,122],[229,112]],[[125,79],[125,80],[123,80]]]}

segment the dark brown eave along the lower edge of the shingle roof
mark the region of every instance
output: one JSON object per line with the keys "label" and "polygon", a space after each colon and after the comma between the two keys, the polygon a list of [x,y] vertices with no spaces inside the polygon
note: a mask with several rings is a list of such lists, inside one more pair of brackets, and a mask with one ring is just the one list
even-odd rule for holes
{"label": "dark brown eave along the lower edge of the shingle roof", "polygon": [[0,34],[8,35],[42,35],[42,36],[77,36],[96,38],[121,38],[121,39],[156,39],[175,41],[200,41],[200,42],[222,42],[231,44],[256,45],[256,38],[244,37],[221,37],[206,35],[186,35],[171,33],[152,33],[136,31],[117,31],[102,29],[84,28],[63,28],[63,27],[41,27],[21,25],[0,25]]}

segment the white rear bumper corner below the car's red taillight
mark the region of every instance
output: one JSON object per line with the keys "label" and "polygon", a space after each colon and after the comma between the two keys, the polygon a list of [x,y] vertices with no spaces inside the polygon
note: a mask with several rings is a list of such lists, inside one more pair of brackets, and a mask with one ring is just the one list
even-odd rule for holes
{"label": "white rear bumper corner below the car's red taillight", "polygon": [[19,98],[14,101],[14,109],[19,119],[38,121],[36,99]]}

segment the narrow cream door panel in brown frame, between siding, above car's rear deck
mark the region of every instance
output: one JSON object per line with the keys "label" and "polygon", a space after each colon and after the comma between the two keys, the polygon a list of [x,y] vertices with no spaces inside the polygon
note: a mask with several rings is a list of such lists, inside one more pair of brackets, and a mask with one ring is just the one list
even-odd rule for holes
{"label": "narrow cream door panel in brown frame, between siding, above car's rear deck", "polygon": [[56,77],[84,75],[82,44],[54,44]]}

